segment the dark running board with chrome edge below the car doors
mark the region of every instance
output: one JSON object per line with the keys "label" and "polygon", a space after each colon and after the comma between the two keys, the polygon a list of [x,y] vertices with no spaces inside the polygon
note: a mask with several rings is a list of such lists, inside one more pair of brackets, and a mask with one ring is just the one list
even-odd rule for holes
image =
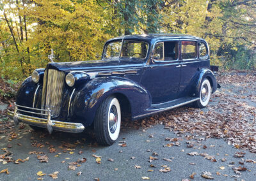
{"label": "dark running board with chrome edge below the car doors", "polygon": [[[182,100],[179,101],[174,101],[174,102],[170,102],[170,103],[163,103],[163,104],[159,104],[159,105],[152,105],[150,108],[148,108],[147,111],[149,111],[148,113],[142,114],[142,115],[137,115],[135,117],[133,117],[133,119],[138,119],[141,117],[147,117],[148,115],[152,115],[155,113],[160,113],[160,112],[165,112],[167,110],[171,110],[173,108],[177,108],[179,106],[183,106],[183,105],[188,105],[189,103],[193,103],[197,100],[199,100],[200,98],[185,98],[186,101],[184,99],[183,102]],[[174,104],[177,103],[177,104]],[[164,105],[170,105],[170,106],[166,106],[163,107]]]}

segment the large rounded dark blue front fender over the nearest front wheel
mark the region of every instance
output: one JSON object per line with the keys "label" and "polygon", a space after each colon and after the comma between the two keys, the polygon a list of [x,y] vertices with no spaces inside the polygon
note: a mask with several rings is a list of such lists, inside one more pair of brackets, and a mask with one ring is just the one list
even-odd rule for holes
{"label": "large rounded dark blue front fender over the nearest front wheel", "polygon": [[95,78],[86,83],[74,97],[74,114],[84,126],[93,122],[100,103],[112,94],[123,94],[131,105],[131,114],[140,115],[150,106],[150,95],[138,83],[122,77]]}

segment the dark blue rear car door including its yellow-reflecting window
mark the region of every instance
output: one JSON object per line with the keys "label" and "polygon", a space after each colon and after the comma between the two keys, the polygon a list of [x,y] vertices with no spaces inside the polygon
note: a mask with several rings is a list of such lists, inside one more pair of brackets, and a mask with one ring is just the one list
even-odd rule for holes
{"label": "dark blue rear car door including its yellow-reflecting window", "polygon": [[192,96],[189,95],[191,91],[191,82],[200,68],[200,61],[198,59],[198,43],[196,40],[181,40],[180,41],[180,97]]}

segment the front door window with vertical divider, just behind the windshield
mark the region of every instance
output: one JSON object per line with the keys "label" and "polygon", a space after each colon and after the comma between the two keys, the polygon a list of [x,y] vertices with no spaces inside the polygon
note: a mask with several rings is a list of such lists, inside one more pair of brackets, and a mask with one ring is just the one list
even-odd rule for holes
{"label": "front door window with vertical divider, just behind the windshield", "polygon": [[178,59],[179,42],[164,41],[157,43],[154,50],[154,60],[156,61],[175,61]]}

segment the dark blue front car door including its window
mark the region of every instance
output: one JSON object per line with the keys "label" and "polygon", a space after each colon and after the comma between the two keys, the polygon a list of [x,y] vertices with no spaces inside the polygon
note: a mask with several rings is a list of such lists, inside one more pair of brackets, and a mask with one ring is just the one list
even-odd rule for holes
{"label": "dark blue front car door including its window", "polygon": [[152,104],[178,98],[180,83],[179,41],[158,41],[141,84],[150,92]]}

